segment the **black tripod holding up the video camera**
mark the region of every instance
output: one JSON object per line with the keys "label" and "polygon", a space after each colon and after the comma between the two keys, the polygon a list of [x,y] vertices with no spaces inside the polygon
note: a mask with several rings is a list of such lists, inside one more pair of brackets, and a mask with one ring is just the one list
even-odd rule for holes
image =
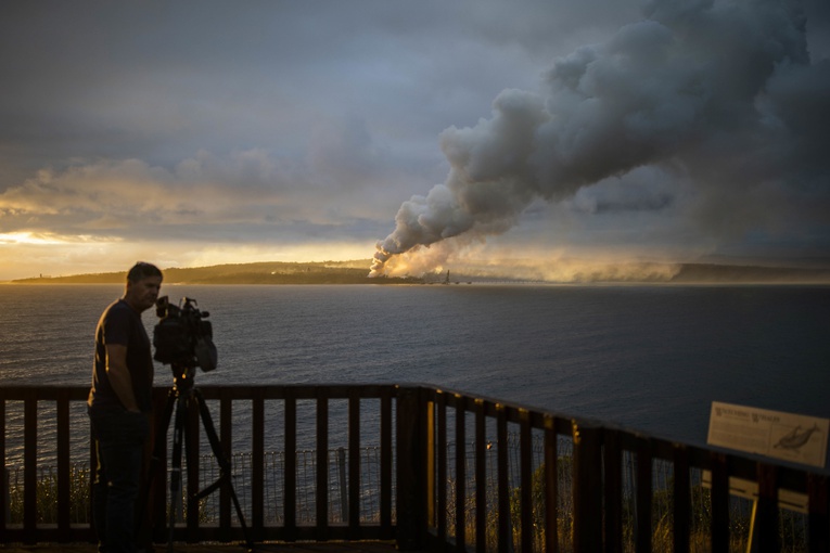
{"label": "black tripod holding up the video camera", "polygon": [[[213,450],[214,458],[219,463],[219,479],[214,484],[196,493],[193,499],[199,501],[206,498],[220,486],[227,486],[227,490],[230,492],[231,500],[233,500],[233,506],[237,510],[237,516],[239,517],[240,525],[242,526],[242,533],[245,538],[245,545],[248,550],[253,549],[253,541],[248,535],[247,526],[245,525],[245,518],[242,514],[242,507],[240,506],[237,492],[233,490],[231,484],[231,464],[230,460],[225,456],[222,452],[221,442],[216,435],[213,421],[210,419],[210,412],[205,404],[205,399],[202,393],[196,388],[193,380],[194,368],[189,365],[173,364],[174,385],[167,394],[167,403],[165,404],[163,416],[158,423],[158,432],[155,436],[155,446],[153,449],[153,456],[150,464],[150,471],[148,474],[148,484],[145,488],[144,502],[142,507],[146,506],[146,496],[152,488],[151,484],[155,477],[155,473],[158,470],[158,465],[163,464],[164,451],[167,440],[167,429],[170,425],[170,419],[173,416],[174,406],[176,407],[176,423],[173,434],[173,456],[170,459],[170,505],[169,505],[169,537],[167,539],[167,551],[173,552],[173,538],[174,529],[176,526],[176,504],[177,498],[181,498],[182,494],[182,478],[181,478],[181,448],[182,439],[184,437],[184,427],[188,419],[188,410],[190,409],[191,401],[194,401],[199,407],[199,414],[202,420],[207,439],[210,442],[210,449]],[[186,448],[186,455],[188,465],[191,462],[197,462],[197,459],[193,458],[193,451],[189,447]],[[143,509],[140,511],[143,512]]]}

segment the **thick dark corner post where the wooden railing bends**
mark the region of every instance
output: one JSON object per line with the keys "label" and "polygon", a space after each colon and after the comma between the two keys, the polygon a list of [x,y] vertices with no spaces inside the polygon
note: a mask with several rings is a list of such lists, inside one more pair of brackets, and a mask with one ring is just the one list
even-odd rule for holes
{"label": "thick dark corner post where the wooden railing bends", "polygon": [[426,434],[419,401],[419,388],[399,387],[397,396],[397,548],[421,549],[425,530],[424,475]]}

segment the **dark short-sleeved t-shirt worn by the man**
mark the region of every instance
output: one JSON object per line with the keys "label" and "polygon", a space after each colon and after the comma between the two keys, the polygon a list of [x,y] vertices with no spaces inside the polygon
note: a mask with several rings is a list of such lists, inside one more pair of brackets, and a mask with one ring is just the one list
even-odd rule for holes
{"label": "dark short-sleeved t-shirt worn by the man", "polygon": [[106,374],[106,345],[127,346],[127,369],[132,381],[138,408],[143,412],[152,409],[153,357],[150,338],[141,316],[124,300],[110,305],[101,314],[95,329],[95,362],[92,368],[92,389],[89,390],[91,409],[124,409],[118,396],[110,385]]}

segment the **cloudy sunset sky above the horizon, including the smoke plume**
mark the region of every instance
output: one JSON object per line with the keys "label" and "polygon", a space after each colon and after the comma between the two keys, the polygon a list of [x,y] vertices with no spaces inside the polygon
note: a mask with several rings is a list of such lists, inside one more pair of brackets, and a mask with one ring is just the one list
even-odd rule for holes
{"label": "cloudy sunset sky above the horizon, including the smoke plume", "polygon": [[830,260],[826,0],[20,0],[0,75],[0,281]]}

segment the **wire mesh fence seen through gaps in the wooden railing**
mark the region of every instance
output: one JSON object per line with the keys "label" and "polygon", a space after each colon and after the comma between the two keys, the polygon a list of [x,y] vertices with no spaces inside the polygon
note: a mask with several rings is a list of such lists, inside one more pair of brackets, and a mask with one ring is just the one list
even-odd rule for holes
{"label": "wire mesh fence seen through gaps in the wooden railing", "polygon": [[[511,520],[514,535],[521,532],[520,517],[518,512],[519,489],[522,486],[519,474],[519,437],[510,435],[508,439],[508,459],[509,475],[508,481],[511,489]],[[475,522],[475,470],[473,454],[475,445],[470,443],[465,448],[465,536],[468,542],[474,535],[472,528]],[[458,485],[455,474],[455,451],[454,443],[447,445],[447,512],[439,513],[437,516],[445,516],[448,533],[455,535],[458,529],[455,527],[455,490]],[[488,520],[497,516],[497,474],[496,455],[498,454],[497,445],[486,449],[486,504]],[[317,452],[315,450],[301,450],[296,452],[297,466],[297,489],[296,489],[296,524],[301,526],[316,524],[316,489],[317,480]],[[362,524],[372,524],[380,519],[380,493],[381,493],[381,461],[380,448],[368,447],[360,450],[360,483],[359,483],[359,509],[360,520]],[[571,441],[570,439],[560,439],[558,445],[558,513],[560,536],[560,548],[562,551],[571,549],[570,529],[573,512],[573,490],[571,480]],[[251,453],[238,453],[231,459],[231,483],[237,492],[246,518],[251,516],[251,490],[252,490],[252,455]],[[669,462],[662,460],[652,461],[652,524],[653,531],[652,543],[654,551],[671,551],[672,549],[672,513],[673,513],[673,479],[674,466]],[[328,458],[328,481],[323,483],[328,487],[328,509],[330,525],[346,524],[348,520],[348,451],[345,448],[333,449],[329,451]],[[283,473],[285,468],[284,451],[270,451],[265,454],[265,524],[267,526],[280,526],[284,522],[283,503]],[[534,477],[531,486],[534,487],[534,550],[544,550],[544,520],[545,507],[541,492],[541,468],[544,466],[542,440],[534,439],[533,443],[533,468]],[[393,473],[394,474],[394,470]],[[637,527],[636,509],[636,461],[629,453],[624,453],[623,458],[623,527],[624,527],[624,548],[627,551],[634,549],[635,528]],[[200,456],[200,489],[204,489],[219,478],[219,464],[213,455],[205,454]],[[90,490],[90,470],[86,463],[73,463],[71,466],[71,523],[88,524],[89,515],[89,490]],[[4,477],[7,483],[4,489],[7,502],[7,526],[15,527],[23,522],[23,468],[21,466],[7,466]],[[711,524],[711,498],[710,490],[703,481],[699,470],[692,470],[690,474],[692,483],[692,551],[708,551],[708,528]],[[395,494],[393,479],[393,498]],[[54,524],[58,520],[56,507],[56,473],[53,466],[39,466],[37,477],[37,513],[38,524]],[[393,499],[393,511],[394,511]],[[183,513],[183,509],[177,506],[178,513]],[[219,494],[212,493],[202,500],[200,504],[200,524],[218,524],[219,516]],[[495,518],[493,518],[495,519]],[[394,520],[394,514],[393,514]],[[745,550],[749,539],[750,525],[752,520],[752,501],[732,497],[730,499],[730,548],[733,550]],[[536,524],[538,522],[538,524]],[[232,519],[235,524],[235,519]],[[488,525],[494,530],[496,524]],[[787,553],[797,553],[807,551],[807,516],[802,513],[781,510],[779,515],[779,533],[781,537],[781,551]],[[514,538],[518,539],[518,538]],[[495,549],[497,536],[487,537],[487,549]]]}

